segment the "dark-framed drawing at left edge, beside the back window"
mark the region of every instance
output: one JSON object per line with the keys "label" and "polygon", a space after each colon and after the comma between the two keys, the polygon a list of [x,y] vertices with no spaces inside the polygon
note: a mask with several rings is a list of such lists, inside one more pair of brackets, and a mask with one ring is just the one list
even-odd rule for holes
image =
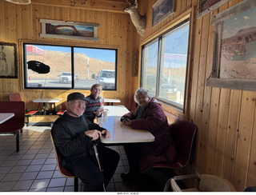
{"label": "dark-framed drawing at left edge, beside the back window", "polygon": [[0,78],[18,78],[15,43],[0,42]]}

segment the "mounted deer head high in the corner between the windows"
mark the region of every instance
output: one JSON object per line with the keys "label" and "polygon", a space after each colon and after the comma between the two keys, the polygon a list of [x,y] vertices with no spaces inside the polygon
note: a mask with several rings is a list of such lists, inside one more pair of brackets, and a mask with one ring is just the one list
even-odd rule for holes
{"label": "mounted deer head high in the corner between the windows", "polygon": [[135,0],[134,4],[131,4],[129,1],[126,0],[130,4],[130,6],[126,7],[124,11],[130,14],[130,19],[134,23],[136,30],[139,35],[144,36],[145,29],[146,29],[146,16],[142,16],[138,13],[138,2]]}

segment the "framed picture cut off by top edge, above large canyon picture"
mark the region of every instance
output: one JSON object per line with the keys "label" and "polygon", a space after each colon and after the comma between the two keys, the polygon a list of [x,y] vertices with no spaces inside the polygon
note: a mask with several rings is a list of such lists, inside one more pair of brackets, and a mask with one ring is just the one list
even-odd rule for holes
{"label": "framed picture cut off by top edge, above large canyon picture", "polygon": [[199,0],[197,18],[208,14],[210,11],[215,10],[219,6],[222,6],[224,3],[229,1],[230,0]]}

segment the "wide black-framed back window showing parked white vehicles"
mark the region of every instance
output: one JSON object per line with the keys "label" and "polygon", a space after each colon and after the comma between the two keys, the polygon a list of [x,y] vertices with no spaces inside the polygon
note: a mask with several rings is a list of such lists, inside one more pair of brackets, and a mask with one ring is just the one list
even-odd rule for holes
{"label": "wide black-framed back window showing parked white vehicles", "polygon": [[116,90],[117,50],[23,43],[25,89]]}

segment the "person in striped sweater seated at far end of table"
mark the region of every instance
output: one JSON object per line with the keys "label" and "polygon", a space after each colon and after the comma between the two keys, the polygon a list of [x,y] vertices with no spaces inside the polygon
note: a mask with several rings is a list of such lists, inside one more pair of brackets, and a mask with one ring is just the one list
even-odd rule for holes
{"label": "person in striped sweater seated at far end of table", "polygon": [[90,88],[90,95],[86,97],[85,114],[89,121],[94,122],[95,117],[102,117],[104,98],[100,96],[102,85],[94,84]]}

